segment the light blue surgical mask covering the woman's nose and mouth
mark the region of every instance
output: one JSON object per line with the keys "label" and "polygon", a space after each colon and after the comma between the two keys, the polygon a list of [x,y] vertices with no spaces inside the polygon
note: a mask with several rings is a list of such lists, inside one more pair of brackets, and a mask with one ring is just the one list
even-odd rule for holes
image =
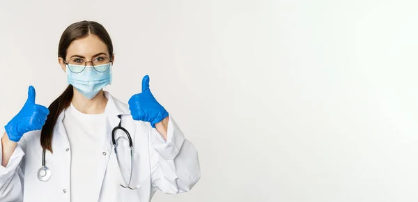
{"label": "light blue surgical mask covering the woman's nose and mouth", "polygon": [[[109,68],[104,72],[98,72],[95,69]],[[84,68],[83,66],[71,65],[71,68]],[[84,97],[91,100],[97,95],[104,86],[111,84],[111,64],[95,66],[86,66],[82,72],[75,73],[70,71],[68,65],[66,65],[68,84],[71,84],[77,91],[82,93]]]}

